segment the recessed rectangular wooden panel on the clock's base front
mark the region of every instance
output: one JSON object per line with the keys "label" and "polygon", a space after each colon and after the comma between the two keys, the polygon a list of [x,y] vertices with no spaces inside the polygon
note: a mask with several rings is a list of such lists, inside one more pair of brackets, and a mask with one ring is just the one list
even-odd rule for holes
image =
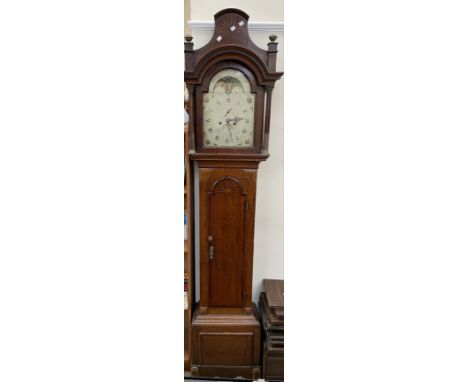
{"label": "recessed rectangular wooden panel on the clock's base front", "polygon": [[248,366],[253,364],[253,333],[200,332],[202,365]]}

